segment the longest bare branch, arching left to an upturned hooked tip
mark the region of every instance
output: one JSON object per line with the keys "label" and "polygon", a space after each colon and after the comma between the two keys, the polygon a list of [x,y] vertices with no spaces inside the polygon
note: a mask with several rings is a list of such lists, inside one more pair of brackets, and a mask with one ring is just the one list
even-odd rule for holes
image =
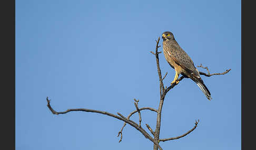
{"label": "longest bare branch, arching left to an upturned hooked tip", "polygon": [[135,122],[131,121],[131,120],[127,120],[122,114],[119,113],[120,116],[117,116],[117,115],[114,115],[112,113],[109,113],[109,112],[105,112],[105,111],[98,111],[98,110],[91,110],[91,109],[68,109],[64,112],[56,112],[52,106],[50,105],[50,100],[48,99],[48,97],[46,98],[47,100],[47,106],[48,108],[50,109],[50,111],[53,113],[53,114],[65,114],[65,113],[68,113],[68,112],[72,112],[72,111],[84,111],[84,112],[93,112],[93,113],[100,113],[100,114],[104,114],[104,115],[108,115],[108,116],[112,116],[118,120],[121,120],[121,121],[124,121],[128,124],[130,124],[131,126],[135,127],[138,131],[140,131],[144,136],[145,138],[148,138],[150,141],[152,141],[154,143],[154,145],[157,145],[157,147],[159,149],[162,150],[162,147],[159,145],[158,141],[155,141],[154,138],[152,138],[142,127],[139,127]]}

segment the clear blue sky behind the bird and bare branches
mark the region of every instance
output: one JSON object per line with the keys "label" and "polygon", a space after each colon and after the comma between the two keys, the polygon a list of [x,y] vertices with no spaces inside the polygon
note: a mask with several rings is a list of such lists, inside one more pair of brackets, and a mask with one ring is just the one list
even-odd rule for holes
{"label": "clear blue sky behind the bird and bare branches", "polygon": [[[159,80],[155,40],[171,31],[195,66],[224,76],[202,76],[212,94],[184,79],[165,98],[160,138],[163,149],[241,149],[240,1],[16,1],[16,149],[153,149],[130,125],[72,108],[127,116],[139,106],[157,109]],[[162,39],[160,41],[162,45]],[[162,51],[162,47],[159,49]],[[160,54],[160,67],[174,70]],[[200,71],[206,71],[199,68]],[[137,114],[131,117],[138,121]],[[142,112],[155,128],[156,115]]]}

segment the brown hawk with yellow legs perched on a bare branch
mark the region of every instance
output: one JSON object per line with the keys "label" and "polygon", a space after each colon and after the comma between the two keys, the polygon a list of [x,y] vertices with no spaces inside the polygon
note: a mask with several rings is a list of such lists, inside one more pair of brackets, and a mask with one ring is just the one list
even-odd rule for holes
{"label": "brown hawk with yellow legs perched on a bare branch", "polygon": [[175,69],[175,77],[171,84],[178,84],[179,75],[192,79],[203,91],[204,95],[211,100],[211,93],[203,83],[198,69],[195,68],[194,62],[189,55],[179,46],[171,32],[165,31],[162,34],[164,57],[169,65]]}

